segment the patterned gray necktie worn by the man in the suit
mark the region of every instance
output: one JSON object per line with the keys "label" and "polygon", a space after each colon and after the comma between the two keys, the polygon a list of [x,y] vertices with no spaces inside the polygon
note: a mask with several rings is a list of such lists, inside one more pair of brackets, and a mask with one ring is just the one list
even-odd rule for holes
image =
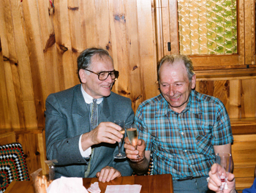
{"label": "patterned gray necktie worn by the man in the suit", "polygon": [[[93,103],[92,103],[92,110],[91,110],[91,130],[95,129],[95,127],[98,124],[97,99],[93,99],[92,101]],[[85,178],[89,175],[91,170],[91,159],[92,159],[93,153],[94,153],[94,148],[91,148],[91,157],[89,160],[87,170],[84,173]]]}

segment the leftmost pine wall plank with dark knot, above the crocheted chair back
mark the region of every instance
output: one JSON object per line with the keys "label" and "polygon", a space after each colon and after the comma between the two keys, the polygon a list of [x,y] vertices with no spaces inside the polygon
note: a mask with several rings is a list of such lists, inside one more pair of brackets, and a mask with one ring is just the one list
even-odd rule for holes
{"label": "leftmost pine wall plank with dark knot, above the crocheted chair back", "polygon": [[6,128],[18,128],[24,126],[24,118],[20,115],[23,112],[23,102],[17,97],[20,94],[19,78],[17,73],[17,68],[15,64],[17,63],[17,57],[15,53],[15,43],[14,43],[14,31],[12,23],[12,9],[10,1],[1,1],[0,6],[0,36],[1,36],[1,48],[4,58],[4,83],[6,85],[7,92],[7,103],[8,110],[5,111],[8,116]]}

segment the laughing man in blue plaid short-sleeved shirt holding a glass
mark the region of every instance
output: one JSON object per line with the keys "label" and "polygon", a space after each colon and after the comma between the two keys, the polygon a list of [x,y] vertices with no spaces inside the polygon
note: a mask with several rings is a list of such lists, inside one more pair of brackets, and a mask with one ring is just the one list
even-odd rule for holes
{"label": "laughing man in blue plaid short-sleeved shirt holding a glass", "polygon": [[138,161],[130,162],[135,172],[145,173],[153,156],[153,173],[171,173],[174,192],[207,192],[215,154],[231,154],[227,110],[214,96],[193,90],[195,79],[187,56],[163,57],[158,65],[161,94],[140,104],[136,112],[137,149],[125,140],[127,157]]}

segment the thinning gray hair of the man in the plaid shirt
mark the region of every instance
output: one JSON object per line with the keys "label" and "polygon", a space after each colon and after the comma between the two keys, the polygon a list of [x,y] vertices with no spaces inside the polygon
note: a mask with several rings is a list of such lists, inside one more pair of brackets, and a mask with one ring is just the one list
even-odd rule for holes
{"label": "thinning gray hair of the man in the plaid shirt", "polygon": [[159,81],[159,71],[162,64],[167,61],[169,64],[173,64],[176,61],[184,61],[185,67],[187,69],[187,77],[189,78],[189,82],[191,82],[193,75],[195,75],[194,67],[192,64],[192,60],[186,55],[166,55],[162,57],[157,64],[157,80]]}

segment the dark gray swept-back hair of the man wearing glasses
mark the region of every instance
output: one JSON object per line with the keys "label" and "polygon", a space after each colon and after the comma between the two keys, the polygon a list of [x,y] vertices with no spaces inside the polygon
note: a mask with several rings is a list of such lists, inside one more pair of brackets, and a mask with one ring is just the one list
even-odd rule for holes
{"label": "dark gray swept-back hair of the man wearing glasses", "polygon": [[[113,58],[109,55],[107,50],[104,50],[102,48],[88,48],[86,50],[83,50],[83,52],[81,52],[80,55],[78,56],[78,60],[77,60],[79,80],[80,80],[79,70],[89,69],[91,67],[91,58],[94,55],[97,55],[100,58],[102,58],[102,56],[108,56],[113,62]],[[80,83],[81,83],[81,80],[80,80]]]}

